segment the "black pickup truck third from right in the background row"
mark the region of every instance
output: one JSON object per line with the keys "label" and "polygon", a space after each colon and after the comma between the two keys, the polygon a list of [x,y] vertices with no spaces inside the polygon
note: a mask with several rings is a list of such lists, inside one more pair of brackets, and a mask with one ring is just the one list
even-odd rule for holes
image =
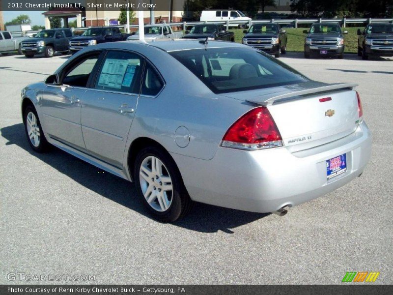
{"label": "black pickup truck third from right in the background row", "polygon": [[287,34],[279,24],[255,24],[245,33],[242,43],[279,58],[286,53]]}

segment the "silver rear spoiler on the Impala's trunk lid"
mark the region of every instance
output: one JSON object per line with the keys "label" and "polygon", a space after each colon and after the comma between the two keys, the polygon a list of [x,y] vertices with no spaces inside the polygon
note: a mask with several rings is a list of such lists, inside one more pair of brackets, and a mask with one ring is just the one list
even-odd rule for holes
{"label": "silver rear spoiler on the Impala's trunk lid", "polygon": [[[296,91],[296,90],[295,91],[282,91],[284,93],[282,93],[282,92],[275,93],[278,95],[273,96],[273,97],[271,97],[272,94],[266,94],[263,96],[248,98],[246,100],[249,102],[263,105],[263,106],[270,106],[274,102],[279,101],[281,99],[285,99],[285,98],[291,98],[291,97],[296,97],[296,96],[300,96],[300,95],[307,95],[307,94],[326,92],[326,91],[338,90],[338,89],[351,89],[352,90],[357,86],[358,86],[358,84],[355,84],[355,83],[330,84],[327,86],[311,87],[309,89],[303,89],[303,90],[298,90],[298,91]],[[279,93],[282,93],[282,94],[279,94]]]}

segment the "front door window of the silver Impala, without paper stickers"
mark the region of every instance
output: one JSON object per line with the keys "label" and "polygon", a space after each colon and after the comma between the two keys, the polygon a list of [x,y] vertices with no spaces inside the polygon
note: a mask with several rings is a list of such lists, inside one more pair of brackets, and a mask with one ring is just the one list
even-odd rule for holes
{"label": "front door window of the silver Impala, without paper stickers", "polygon": [[97,63],[100,53],[89,55],[66,69],[62,83],[74,87],[86,87],[91,72]]}

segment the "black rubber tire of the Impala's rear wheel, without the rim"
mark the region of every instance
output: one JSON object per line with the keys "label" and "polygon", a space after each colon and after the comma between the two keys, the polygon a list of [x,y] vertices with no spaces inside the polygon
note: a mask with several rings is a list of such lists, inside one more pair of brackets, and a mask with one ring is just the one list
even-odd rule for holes
{"label": "black rubber tire of the Impala's rear wheel, without the rim", "polygon": [[[170,204],[168,210],[164,212],[159,212],[154,210],[147,203],[146,199],[143,196],[142,190],[140,188],[140,176],[139,176],[140,165],[142,164],[143,160],[149,156],[154,156],[159,158],[161,162],[163,162],[165,167],[167,167],[168,173],[172,179],[172,186],[173,186],[172,203]],[[185,205],[182,203],[186,202],[184,198],[189,198],[189,197],[185,192],[184,184],[182,182],[180,172],[178,171],[177,166],[174,163],[173,159],[170,157],[170,155],[168,155],[167,152],[163,151],[161,148],[156,148],[156,147],[148,147],[140,150],[135,160],[133,175],[134,175],[134,181],[135,181],[137,193],[140,196],[140,199],[142,200],[144,207],[155,219],[161,222],[172,222],[177,220],[182,215],[183,207]]]}

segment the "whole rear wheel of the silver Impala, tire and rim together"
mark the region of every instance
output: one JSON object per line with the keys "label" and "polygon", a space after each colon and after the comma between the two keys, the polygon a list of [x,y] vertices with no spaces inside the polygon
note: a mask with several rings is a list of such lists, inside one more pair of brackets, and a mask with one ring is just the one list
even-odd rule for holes
{"label": "whole rear wheel of the silver Impala, tire and rim together", "polygon": [[155,219],[173,222],[191,210],[193,201],[165,150],[154,146],[140,150],[135,159],[134,179],[143,205]]}

